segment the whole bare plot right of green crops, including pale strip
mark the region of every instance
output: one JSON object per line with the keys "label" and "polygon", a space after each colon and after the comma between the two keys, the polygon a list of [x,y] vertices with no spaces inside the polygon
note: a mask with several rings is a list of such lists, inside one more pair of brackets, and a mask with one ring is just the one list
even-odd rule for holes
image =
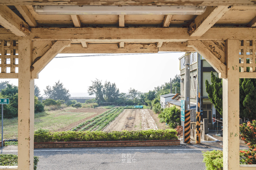
{"label": "whole bare plot right of green crops, including pale strip", "polygon": [[125,109],[125,111],[105,129],[106,132],[121,130],[157,129],[148,109]]}

